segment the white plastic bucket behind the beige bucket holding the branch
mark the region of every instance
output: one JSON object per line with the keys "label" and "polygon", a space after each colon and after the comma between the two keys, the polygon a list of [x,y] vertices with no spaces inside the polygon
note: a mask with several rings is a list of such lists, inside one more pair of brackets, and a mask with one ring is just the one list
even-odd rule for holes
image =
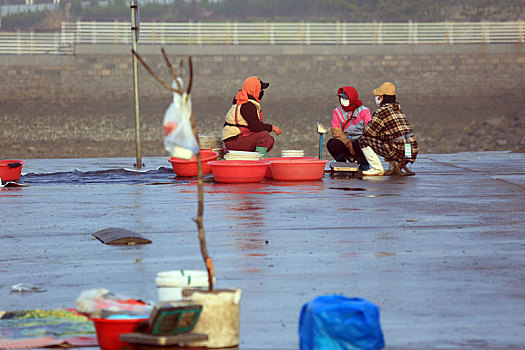
{"label": "white plastic bucket behind the beige bucket holding the branch", "polygon": [[[215,278],[214,282],[215,284]],[[157,273],[155,285],[159,292],[159,303],[183,300],[182,289],[208,289],[208,272],[201,270],[174,270]]]}

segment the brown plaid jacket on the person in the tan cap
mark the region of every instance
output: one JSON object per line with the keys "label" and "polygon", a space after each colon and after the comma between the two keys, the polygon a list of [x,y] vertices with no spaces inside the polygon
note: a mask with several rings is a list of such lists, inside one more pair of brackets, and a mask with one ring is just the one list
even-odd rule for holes
{"label": "brown plaid jacket on the person in the tan cap", "polygon": [[[398,103],[386,103],[372,115],[372,120],[363,130],[359,139],[361,147],[370,146],[372,149],[387,159],[405,159],[405,140],[395,140],[412,132],[410,123]],[[411,144],[414,161],[419,152],[419,145],[414,136],[407,138]]]}

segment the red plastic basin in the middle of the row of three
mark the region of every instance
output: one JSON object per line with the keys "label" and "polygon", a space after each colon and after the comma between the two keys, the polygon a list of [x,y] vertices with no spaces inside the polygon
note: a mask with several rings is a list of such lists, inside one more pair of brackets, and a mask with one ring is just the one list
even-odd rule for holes
{"label": "red plastic basin in the middle of the row of three", "polygon": [[268,167],[265,160],[220,160],[209,162],[217,182],[261,182]]}

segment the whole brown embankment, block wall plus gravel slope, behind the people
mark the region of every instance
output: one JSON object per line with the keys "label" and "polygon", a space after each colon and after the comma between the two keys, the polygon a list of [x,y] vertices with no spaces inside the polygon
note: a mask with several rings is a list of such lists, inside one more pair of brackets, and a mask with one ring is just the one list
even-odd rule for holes
{"label": "whole brown embankment, block wall plus gravel slope, behind the people", "polygon": [[[263,100],[265,121],[285,130],[278,149],[315,152],[315,122],[329,126],[338,87],[355,86],[374,110],[371,91],[392,81],[425,153],[525,147],[524,49],[523,44],[166,47],[175,65],[193,57],[193,106],[203,133],[220,133],[233,95],[246,77],[258,75],[271,84]],[[171,82],[160,47],[139,45],[139,53]],[[0,56],[0,76],[0,122],[9,125],[0,131],[4,156],[6,147],[7,153],[44,156],[30,146],[37,142],[55,157],[134,154],[129,47],[77,46],[74,56]],[[171,95],[142,67],[139,80],[144,149],[146,155],[163,154],[159,125]]]}

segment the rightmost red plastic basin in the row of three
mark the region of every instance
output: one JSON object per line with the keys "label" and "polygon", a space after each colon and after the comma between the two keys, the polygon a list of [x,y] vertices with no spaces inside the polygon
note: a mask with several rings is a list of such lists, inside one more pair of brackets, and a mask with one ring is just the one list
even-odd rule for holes
{"label": "rightmost red plastic basin in the row of three", "polygon": [[277,159],[271,160],[274,180],[312,181],[321,180],[328,160],[319,159]]}

